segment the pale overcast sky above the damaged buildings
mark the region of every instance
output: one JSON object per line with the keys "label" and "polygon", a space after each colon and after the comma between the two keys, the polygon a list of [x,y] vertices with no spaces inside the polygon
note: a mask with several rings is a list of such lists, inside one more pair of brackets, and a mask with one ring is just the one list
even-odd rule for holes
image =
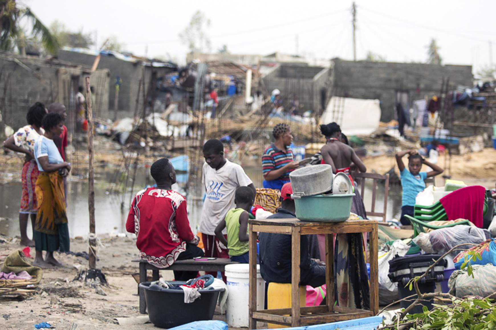
{"label": "pale overcast sky above the damaged buildings", "polygon": [[[115,36],[136,55],[184,64],[187,47],[178,37],[195,11],[210,19],[211,51],[275,51],[308,58],[353,59],[352,1],[330,0],[24,0],[50,25],[93,33],[101,44]],[[357,0],[357,59],[372,52],[387,61],[425,62],[437,40],[445,64],[472,64],[474,73],[496,52],[496,1]],[[493,56],[496,59],[495,56]]]}

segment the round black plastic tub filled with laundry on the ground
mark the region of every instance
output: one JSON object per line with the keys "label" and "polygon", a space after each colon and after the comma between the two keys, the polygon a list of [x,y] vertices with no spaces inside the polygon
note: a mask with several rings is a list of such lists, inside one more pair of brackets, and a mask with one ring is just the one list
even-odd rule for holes
{"label": "round black plastic tub filled with laundry on the ground", "polygon": [[[176,282],[186,284],[186,282]],[[151,323],[159,328],[173,328],[194,321],[212,320],[217,305],[220,289],[198,290],[201,297],[192,303],[184,302],[184,291],[182,289],[150,289],[150,282],[139,284],[139,288],[145,292],[146,306]],[[248,300],[247,300],[248,304]]]}

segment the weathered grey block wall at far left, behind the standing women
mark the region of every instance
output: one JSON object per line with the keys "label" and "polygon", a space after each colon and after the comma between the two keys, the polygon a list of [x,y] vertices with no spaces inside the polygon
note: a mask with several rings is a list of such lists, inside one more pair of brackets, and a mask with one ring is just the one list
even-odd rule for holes
{"label": "weathered grey block wall at far left, behind the standing women", "polygon": [[[29,68],[26,69],[14,61]],[[30,71],[32,70],[32,71]],[[83,78],[89,75],[89,69],[71,67],[60,61],[50,61],[31,56],[0,54],[0,104],[5,102],[2,114],[4,123],[12,129],[26,125],[26,113],[31,105],[39,101],[47,107],[53,102],[64,104],[69,112],[72,108],[70,81],[83,84]],[[108,71],[97,70],[90,75],[93,81],[101,81],[108,85]],[[98,110],[106,116],[108,109],[108,90],[97,93]]]}

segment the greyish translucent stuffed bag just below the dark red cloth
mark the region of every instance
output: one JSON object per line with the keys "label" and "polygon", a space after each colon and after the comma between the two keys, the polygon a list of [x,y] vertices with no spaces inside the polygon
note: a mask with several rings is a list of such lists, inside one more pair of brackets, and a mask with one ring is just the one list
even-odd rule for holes
{"label": "greyish translucent stuffed bag just below the dark red cloth", "polygon": [[[426,235],[429,236],[429,242],[426,239]],[[413,241],[428,253],[445,253],[458,244],[479,244],[488,238],[491,238],[491,234],[487,229],[458,225],[449,228],[436,229],[429,234],[421,233],[419,236],[415,237]],[[471,246],[472,245],[467,245],[465,249],[468,249]],[[462,249],[464,249],[463,246],[460,247],[460,250]],[[451,252],[450,256],[455,257],[460,250]]]}

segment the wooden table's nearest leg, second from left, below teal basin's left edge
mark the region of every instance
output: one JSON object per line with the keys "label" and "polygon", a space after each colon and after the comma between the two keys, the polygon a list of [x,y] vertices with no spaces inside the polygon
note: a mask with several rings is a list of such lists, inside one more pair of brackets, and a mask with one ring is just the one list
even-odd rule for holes
{"label": "wooden table's nearest leg, second from left, below teal basin's left edge", "polygon": [[291,326],[300,327],[300,227],[291,233]]}

